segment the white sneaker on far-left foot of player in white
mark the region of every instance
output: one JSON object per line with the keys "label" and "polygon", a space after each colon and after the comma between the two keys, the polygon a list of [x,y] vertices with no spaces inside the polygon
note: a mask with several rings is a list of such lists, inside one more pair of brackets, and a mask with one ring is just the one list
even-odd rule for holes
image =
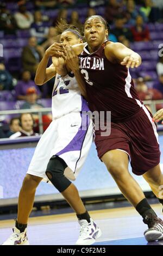
{"label": "white sneaker on far-left foot of player in white", "polygon": [[20,232],[16,227],[12,228],[13,234],[2,245],[29,245],[27,228]]}

